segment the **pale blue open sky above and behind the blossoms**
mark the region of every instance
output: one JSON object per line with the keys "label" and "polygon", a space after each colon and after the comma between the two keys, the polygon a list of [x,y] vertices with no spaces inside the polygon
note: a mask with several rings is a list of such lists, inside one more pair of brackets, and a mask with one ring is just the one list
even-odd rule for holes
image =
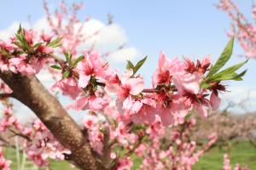
{"label": "pale blue open sky above and behind the blossoms", "polygon": [[[49,2],[51,9],[56,8],[60,3],[60,1]],[[214,4],[218,1],[84,0],[82,2],[84,8],[79,13],[79,17],[90,15],[97,20],[107,21],[107,14],[113,14],[114,22],[125,30],[128,37],[127,46],[136,47],[143,55],[148,55],[148,61],[141,71],[147,77],[148,83],[156,67],[160,50],[164,50],[170,58],[186,55],[197,59],[211,54],[213,59],[217,59],[226,42],[229,41],[226,31],[230,28],[230,19],[215,8]],[[236,3],[240,4],[245,14],[250,14],[252,1],[236,1]],[[0,30],[4,30],[14,21],[26,21],[29,15],[32,22],[44,17],[42,1],[9,0],[1,2]],[[242,54],[238,42],[236,42],[234,54],[230,64],[242,60],[236,56],[236,54]],[[243,98],[243,95],[246,97],[246,93],[242,93],[242,90],[244,92],[256,91],[254,78],[256,60],[251,59],[245,68],[248,69],[247,75],[244,77],[245,81],[228,83],[231,89],[240,90],[240,94],[235,93],[237,99]]]}

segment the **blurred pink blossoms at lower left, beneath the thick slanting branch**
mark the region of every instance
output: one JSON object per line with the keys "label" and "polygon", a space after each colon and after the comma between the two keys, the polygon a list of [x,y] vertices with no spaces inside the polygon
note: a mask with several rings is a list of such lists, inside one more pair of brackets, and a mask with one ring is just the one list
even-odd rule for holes
{"label": "blurred pink blossoms at lower left, beneath the thick slanting branch", "polygon": [[[12,136],[20,136],[23,141],[20,148],[25,150],[28,158],[38,167],[48,166],[49,158],[64,160],[65,155],[70,154],[70,151],[65,149],[39,120],[34,121],[31,126],[21,125],[13,115],[12,108],[3,110],[3,117],[0,119],[0,131],[1,133],[11,133]],[[9,143],[12,143],[11,138],[4,139],[3,144]],[[3,156],[2,152],[1,156]],[[6,170],[8,170],[9,164],[10,161],[4,161],[4,158],[0,158],[0,167],[6,166]]]}

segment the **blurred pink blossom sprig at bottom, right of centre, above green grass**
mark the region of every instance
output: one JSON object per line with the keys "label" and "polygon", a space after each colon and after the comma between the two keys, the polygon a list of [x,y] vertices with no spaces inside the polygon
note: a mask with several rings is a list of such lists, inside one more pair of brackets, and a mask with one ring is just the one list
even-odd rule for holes
{"label": "blurred pink blossom sprig at bottom, right of centre, above green grass", "polygon": [[198,147],[195,141],[189,140],[193,127],[194,118],[173,127],[171,134],[162,131],[160,138],[152,138],[152,143],[140,145],[136,150],[137,156],[144,158],[140,169],[192,169],[217,139],[216,134],[212,133],[208,136],[208,142]]}

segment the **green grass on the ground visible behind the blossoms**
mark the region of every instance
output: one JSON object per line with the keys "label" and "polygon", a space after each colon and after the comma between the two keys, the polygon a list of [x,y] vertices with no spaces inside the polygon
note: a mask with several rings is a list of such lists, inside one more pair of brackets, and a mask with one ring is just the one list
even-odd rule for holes
{"label": "green grass on the ground visible behind the blossoms", "polygon": [[[214,147],[209,150],[204,156],[201,157],[193,170],[221,170],[223,167],[223,156],[226,150],[219,150],[218,147]],[[247,142],[242,142],[240,144],[233,144],[230,149],[230,162],[234,167],[236,163],[240,163],[242,166],[247,164],[247,166],[253,170],[256,169],[256,148],[252,144]],[[17,169],[16,155],[14,149],[5,150],[6,158],[13,161],[11,169]],[[137,156],[132,156],[134,160],[133,170],[137,169],[142,163],[142,158]],[[52,170],[69,170],[72,169],[67,161],[51,161]],[[27,162],[26,167],[32,167],[32,163]]]}

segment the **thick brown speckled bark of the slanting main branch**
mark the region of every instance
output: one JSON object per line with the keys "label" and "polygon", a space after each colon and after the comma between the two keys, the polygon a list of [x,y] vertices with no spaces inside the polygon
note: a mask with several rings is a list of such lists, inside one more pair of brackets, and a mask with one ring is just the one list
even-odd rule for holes
{"label": "thick brown speckled bark of the slanting main branch", "polygon": [[68,158],[76,166],[83,170],[102,169],[78,124],[68,115],[60,102],[49,94],[37,77],[24,77],[11,72],[1,73],[0,77],[13,90],[13,97],[29,107],[55,138],[72,151]]}

